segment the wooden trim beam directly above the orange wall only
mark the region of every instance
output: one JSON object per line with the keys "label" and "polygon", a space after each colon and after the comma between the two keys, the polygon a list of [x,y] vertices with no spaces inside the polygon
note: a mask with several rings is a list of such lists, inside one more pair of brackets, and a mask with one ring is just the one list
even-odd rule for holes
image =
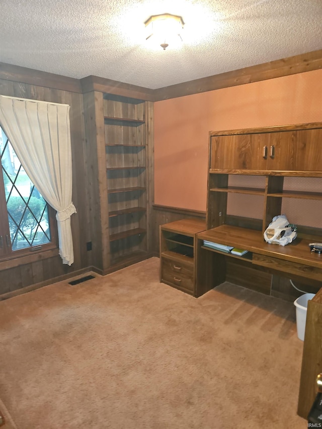
{"label": "wooden trim beam directly above the orange wall only", "polygon": [[322,49],[154,90],[154,101],[184,97],[322,68]]}

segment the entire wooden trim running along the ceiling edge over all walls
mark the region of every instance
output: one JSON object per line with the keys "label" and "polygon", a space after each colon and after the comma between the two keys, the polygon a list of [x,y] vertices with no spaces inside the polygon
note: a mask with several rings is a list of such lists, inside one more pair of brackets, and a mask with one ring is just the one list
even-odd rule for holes
{"label": "entire wooden trim running along the ceiling edge over all walls", "polygon": [[0,62],[0,79],[29,83],[40,87],[88,93],[98,91],[145,101],[160,101],[192,94],[199,94],[221,88],[234,87],[245,83],[273,79],[289,74],[302,73],[322,68],[322,49],[305,54],[282,58],[251,67],[227,71],[189,82],[178,83],[169,87],[151,90],[129,83],[118,82],[98,76],[87,76],[83,79],[61,76],[45,71],[33,70],[18,65]]}

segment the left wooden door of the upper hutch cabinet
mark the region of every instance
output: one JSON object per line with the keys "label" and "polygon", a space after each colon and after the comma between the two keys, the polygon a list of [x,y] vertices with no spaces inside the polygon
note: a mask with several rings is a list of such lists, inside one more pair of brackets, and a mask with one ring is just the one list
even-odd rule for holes
{"label": "left wooden door of the upper hutch cabinet", "polygon": [[269,133],[213,136],[210,168],[265,171],[269,148]]}

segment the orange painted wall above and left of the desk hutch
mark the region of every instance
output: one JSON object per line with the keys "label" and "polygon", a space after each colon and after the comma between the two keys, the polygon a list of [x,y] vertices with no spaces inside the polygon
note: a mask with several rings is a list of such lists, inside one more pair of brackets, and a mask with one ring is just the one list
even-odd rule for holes
{"label": "orange painted wall above and left of the desk hutch", "polygon": [[206,210],[209,131],[305,122],[322,122],[322,70],[154,103],[154,203]]}

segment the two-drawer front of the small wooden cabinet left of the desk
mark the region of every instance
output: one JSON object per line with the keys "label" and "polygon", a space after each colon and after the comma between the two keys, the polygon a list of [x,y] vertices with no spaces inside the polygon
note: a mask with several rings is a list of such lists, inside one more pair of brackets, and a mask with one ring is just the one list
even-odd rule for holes
{"label": "two-drawer front of the small wooden cabinet left of the desk", "polygon": [[171,286],[193,291],[193,266],[182,262],[162,259],[161,278]]}

